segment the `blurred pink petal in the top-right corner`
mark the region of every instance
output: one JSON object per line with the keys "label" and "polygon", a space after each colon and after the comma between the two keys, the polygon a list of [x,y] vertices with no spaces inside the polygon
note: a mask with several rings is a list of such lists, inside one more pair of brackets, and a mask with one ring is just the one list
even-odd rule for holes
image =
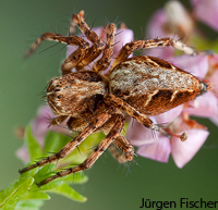
{"label": "blurred pink petal in the top-right corner", "polygon": [[192,0],[194,15],[218,30],[218,0]]}

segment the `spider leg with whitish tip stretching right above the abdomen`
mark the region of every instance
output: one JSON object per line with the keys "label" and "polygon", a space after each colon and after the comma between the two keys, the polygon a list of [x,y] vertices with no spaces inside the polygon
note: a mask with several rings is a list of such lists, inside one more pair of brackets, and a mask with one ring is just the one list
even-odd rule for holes
{"label": "spider leg with whitish tip stretching right above the abdomen", "polygon": [[196,52],[192,47],[186,46],[180,40],[173,40],[172,38],[160,38],[160,39],[149,39],[149,40],[134,40],[129,44],[125,44],[122,49],[119,51],[117,58],[113,60],[111,64],[111,70],[120,62],[128,59],[128,57],[134,50],[142,50],[147,48],[157,48],[157,47],[169,47],[172,46],[173,48],[183,51],[186,54],[194,55]]}

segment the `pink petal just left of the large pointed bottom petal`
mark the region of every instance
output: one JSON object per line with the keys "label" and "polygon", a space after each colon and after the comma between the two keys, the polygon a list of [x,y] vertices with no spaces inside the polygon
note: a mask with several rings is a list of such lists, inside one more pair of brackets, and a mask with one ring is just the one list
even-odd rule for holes
{"label": "pink petal just left of the large pointed bottom petal", "polygon": [[140,146],[136,153],[159,162],[168,162],[170,152],[171,146],[169,138],[161,136],[155,143]]}

